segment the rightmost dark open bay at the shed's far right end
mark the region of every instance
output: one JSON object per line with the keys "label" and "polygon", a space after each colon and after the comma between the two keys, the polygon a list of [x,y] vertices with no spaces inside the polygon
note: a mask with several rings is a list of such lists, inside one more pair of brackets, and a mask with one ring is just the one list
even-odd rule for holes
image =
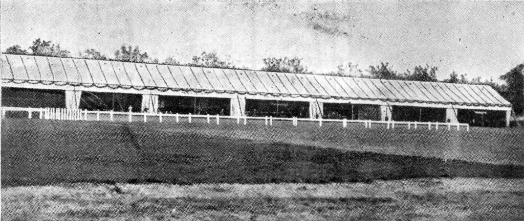
{"label": "rightmost dark open bay at the shed's far right end", "polygon": [[457,109],[457,112],[460,123],[468,123],[471,126],[506,126],[505,111]]}

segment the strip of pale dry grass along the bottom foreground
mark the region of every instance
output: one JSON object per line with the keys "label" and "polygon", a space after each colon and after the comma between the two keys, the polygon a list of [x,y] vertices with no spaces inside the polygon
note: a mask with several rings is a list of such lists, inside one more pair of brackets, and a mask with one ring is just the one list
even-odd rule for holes
{"label": "strip of pale dry grass along the bottom foreground", "polygon": [[2,188],[2,220],[522,220],[524,179]]}

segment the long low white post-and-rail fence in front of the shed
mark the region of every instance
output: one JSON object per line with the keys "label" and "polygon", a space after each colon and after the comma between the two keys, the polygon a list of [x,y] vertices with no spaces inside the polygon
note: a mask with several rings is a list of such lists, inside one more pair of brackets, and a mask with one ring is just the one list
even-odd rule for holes
{"label": "long low white post-and-rail fence in front of the shed", "polygon": [[33,118],[33,113],[38,113],[39,119],[49,120],[91,120],[88,115],[94,115],[96,121],[101,120],[101,116],[108,116],[109,121],[114,121],[118,115],[127,117],[128,122],[133,121],[133,117],[140,116],[144,122],[147,122],[148,117],[158,117],[158,121],[162,122],[166,118],[174,119],[177,123],[181,119],[187,119],[188,123],[192,122],[192,119],[206,119],[208,124],[216,123],[220,124],[221,119],[233,119],[236,120],[237,124],[247,125],[248,120],[264,121],[266,125],[272,126],[273,121],[291,121],[293,126],[298,126],[298,122],[318,122],[319,127],[322,127],[323,123],[341,123],[342,127],[347,127],[348,123],[364,124],[365,128],[372,128],[372,124],[386,124],[387,129],[395,129],[396,125],[406,125],[407,129],[418,129],[419,127],[427,127],[428,130],[439,130],[439,127],[447,127],[450,131],[452,128],[460,131],[461,127],[465,127],[466,131],[470,131],[470,125],[467,123],[440,123],[440,122],[409,122],[409,121],[373,121],[373,120],[347,120],[347,119],[309,119],[309,118],[274,118],[274,117],[247,117],[247,116],[222,116],[222,115],[195,115],[195,114],[168,114],[168,113],[136,113],[136,112],[117,112],[117,111],[90,111],[80,109],[65,109],[65,108],[18,108],[18,107],[2,107],[2,118],[5,118],[5,114],[8,111],[13,112],[28,112],[28,118]]}

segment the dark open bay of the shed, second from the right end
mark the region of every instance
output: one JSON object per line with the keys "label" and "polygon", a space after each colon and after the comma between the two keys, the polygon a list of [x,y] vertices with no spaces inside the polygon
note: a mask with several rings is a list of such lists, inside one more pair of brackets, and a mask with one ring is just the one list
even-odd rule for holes
{"label": "dark open bay of the shed, second from the right end", "polygon": [[445,122],[445,108],[391,106],[391,117],[395,121]]}

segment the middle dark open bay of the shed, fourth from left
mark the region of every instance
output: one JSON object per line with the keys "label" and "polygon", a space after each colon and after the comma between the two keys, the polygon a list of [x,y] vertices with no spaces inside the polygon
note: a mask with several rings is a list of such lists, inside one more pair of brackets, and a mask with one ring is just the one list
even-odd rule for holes
{"label": "middle dark open bay of the shed, fourth from left", "polygon": [[309,118],[309,102],[246,99],[246,115],[250,117]]}

